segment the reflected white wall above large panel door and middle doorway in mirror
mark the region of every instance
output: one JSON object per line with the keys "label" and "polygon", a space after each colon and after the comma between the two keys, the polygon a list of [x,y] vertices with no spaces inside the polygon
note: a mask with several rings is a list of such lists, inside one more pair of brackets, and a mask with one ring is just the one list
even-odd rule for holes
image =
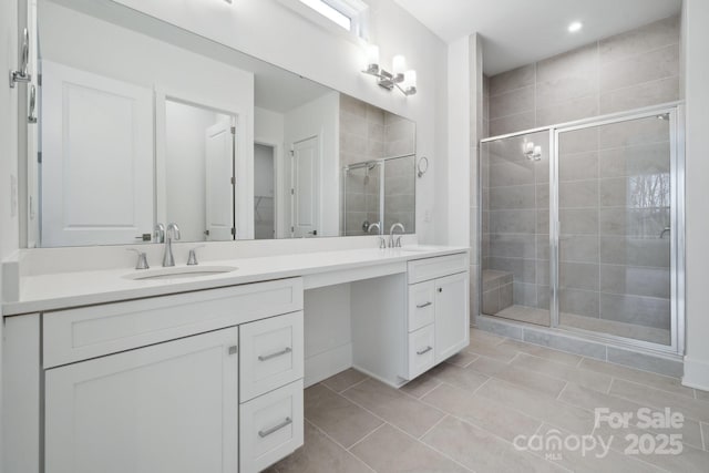
{"label": "reflected white wall above large panel door and middle doorway in mirror", "polygon": [[[39,9],[42,58],[236,115],[239,238],[253,238],[254,74],[56,3]],[[160,104],[157,113],[163,110]],[[156,140],[162,140],[157,121]],[[247,146],[246,143],[249,145]],[[161,162],[163,143],[156,143]],[[160,168],[160,165],[158,165]],[[163,193],[161,181],[158,193]],[[164,215],[164,210],[158,212]],[[179,224],[179,222],[177,222]]]}

